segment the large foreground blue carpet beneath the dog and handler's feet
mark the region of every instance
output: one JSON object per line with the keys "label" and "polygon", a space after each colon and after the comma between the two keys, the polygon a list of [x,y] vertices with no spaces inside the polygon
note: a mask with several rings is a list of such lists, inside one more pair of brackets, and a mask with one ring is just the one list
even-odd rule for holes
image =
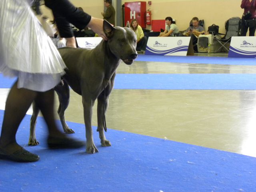
{"label": "large foreground blue carpet beneath the dog and handler's feet", "polygon": [[[3,111],[0,110],[0,124]],[[1,192],[252,192],[256,188],[256,158],[108,129],[111,147],[99,150],[49,150],[46,126],[38,118],[39,146],[27,146],[30,116],[26,115],[17,141],[40,156],[38,162],[0,160]],[[58,121],[59,123],[59,121]],[[68,122],[75,138],[85,140],[83,124]]]}

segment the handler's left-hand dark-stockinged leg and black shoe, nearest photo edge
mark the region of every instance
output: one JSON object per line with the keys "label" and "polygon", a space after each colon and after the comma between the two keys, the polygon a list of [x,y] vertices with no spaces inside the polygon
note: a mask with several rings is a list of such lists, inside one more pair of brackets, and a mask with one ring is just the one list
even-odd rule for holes
{"label": "handler's left-hand dark-stockinged leg and black shoe, nearest photo edge", "polygon": [[0,136],[0,157],[14,161],[33,162],[39,156],[22,148],[16,142],[16,132],[37,92],[12,86],[5,106],[4,120]]}

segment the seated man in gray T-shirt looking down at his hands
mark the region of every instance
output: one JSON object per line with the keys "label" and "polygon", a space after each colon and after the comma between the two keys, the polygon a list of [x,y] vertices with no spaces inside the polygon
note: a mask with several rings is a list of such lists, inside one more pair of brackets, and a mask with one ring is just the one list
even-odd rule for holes
{"label": "seated man in gray T-shirt looking down at his hands", "polygon": [[204,34],[204,28],[199,25],[199,19],[197,17],[192,18],[192,25],[187,28],[187,30],[183,34],[179,34],[179,36],[190,36],[193,46],[197,43],[197,38],[200,34]]}

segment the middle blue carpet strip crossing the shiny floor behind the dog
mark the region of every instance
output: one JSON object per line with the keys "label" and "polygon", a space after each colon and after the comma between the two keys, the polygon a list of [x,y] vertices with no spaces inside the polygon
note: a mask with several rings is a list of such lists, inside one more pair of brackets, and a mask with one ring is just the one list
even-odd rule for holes
{"label": "middle blue carpet strip crossing the shiny floor behind the dog", "polygon": [[[0,88],[15,78],[0,74]],[[256,74],[117,74],[115,89],[256,90]]]}

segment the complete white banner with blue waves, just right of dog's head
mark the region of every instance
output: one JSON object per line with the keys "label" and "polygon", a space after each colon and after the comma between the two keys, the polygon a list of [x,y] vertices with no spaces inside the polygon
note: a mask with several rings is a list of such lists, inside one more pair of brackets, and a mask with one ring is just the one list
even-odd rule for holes
{"label": "complete white banner with blue waves, just right of dog's head", "polygon": [[145,54],[186,56],[189,42],[190,37],[149,37]]}

